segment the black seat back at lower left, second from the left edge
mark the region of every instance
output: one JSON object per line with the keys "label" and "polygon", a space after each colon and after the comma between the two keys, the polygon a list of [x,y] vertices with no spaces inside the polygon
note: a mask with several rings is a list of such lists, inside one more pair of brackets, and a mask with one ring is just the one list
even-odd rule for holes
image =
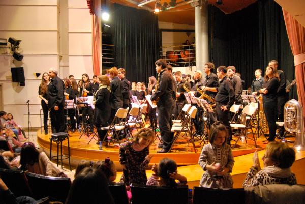
{"label": "black seat back at lower left, second from the left edge", "polygon": [[65,203],[71,187],[70,178],[49,177],[35,173],[26,173],[26,178],[34,199],[38,200],[48,196],[52,201]]}

